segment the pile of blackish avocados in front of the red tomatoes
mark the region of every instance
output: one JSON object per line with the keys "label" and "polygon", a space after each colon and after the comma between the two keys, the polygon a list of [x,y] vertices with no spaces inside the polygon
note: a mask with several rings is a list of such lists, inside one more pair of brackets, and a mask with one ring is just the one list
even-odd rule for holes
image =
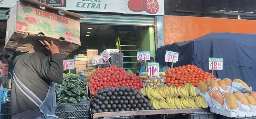
{"label": "pile of blackish avocados in front of the red tomatoes", "polygon": [[134,87],[119,86],[99,89],[91,102],[91,113],[139,111],[155,109]]}

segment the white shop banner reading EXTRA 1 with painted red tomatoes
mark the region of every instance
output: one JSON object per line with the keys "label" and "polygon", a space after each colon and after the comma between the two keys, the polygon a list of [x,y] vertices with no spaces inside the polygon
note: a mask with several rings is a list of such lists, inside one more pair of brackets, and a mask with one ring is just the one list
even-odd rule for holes
{"label": "white shop banner reading EXTRA 1 with painted red tomatoes", "polygon": [[[17,0],[0,0],[0,7],[12,7]],[[164,0],[38,0],[70,11],[165,15]]]}

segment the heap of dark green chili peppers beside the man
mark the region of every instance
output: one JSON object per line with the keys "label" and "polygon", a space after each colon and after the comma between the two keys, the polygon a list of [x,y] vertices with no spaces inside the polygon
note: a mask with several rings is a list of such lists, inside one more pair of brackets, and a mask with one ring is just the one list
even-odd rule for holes
{"label": "heap of dark green chili peppers beside the man", "polygon": [[76,74],[63,74],[63,83],[54,84],[57,104],[77,103],[88,100],[86,78]]}

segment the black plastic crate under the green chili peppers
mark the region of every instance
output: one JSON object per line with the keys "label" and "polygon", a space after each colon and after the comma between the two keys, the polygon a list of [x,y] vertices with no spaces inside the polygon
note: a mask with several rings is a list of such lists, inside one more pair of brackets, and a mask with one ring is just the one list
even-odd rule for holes
{"label": "black plastic crate under the green chili peppers", "polygon": [[90,119],[90,101],[57,104],[55,115],[59,119]]}

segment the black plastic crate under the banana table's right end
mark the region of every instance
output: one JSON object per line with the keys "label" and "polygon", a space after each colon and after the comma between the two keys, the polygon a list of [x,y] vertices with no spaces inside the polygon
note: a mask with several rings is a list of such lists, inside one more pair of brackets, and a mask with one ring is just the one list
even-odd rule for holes
{"label": "black plastic crate under the banana table's right end", "polygon": [[188,114],[187,119],[217,119],[217,114],[215,113]]}

